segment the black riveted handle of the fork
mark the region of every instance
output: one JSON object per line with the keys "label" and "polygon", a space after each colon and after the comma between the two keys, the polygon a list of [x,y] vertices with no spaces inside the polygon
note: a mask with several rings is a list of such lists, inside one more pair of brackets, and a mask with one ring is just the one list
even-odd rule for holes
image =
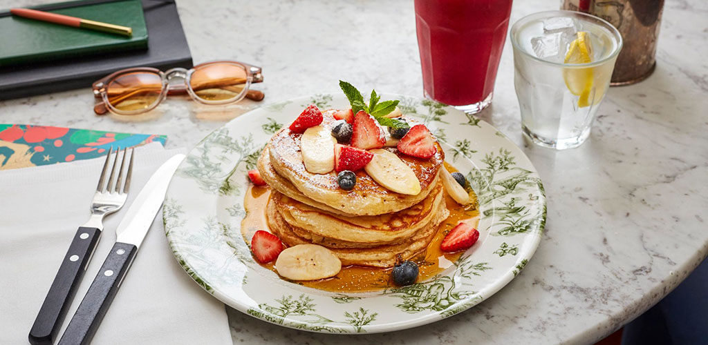
{"label": "black riveted handle of the fork", "polygon": [[42,308],[35,319],[35,323],[30,329],[30,344],[52,344],[57,337],[62,321],[67,316],[69,305],[72,304],[76,288],[79,287],[81,277],[86,272],[93,251],[98,245],[98,238],[101,238],[101,230],[98,228],[85,228],[83,226],[76,230],[74,240],[69,245],[67,255],[64,256],[62,266],[59,267],[57,276],[49,288],[47,297]]}

